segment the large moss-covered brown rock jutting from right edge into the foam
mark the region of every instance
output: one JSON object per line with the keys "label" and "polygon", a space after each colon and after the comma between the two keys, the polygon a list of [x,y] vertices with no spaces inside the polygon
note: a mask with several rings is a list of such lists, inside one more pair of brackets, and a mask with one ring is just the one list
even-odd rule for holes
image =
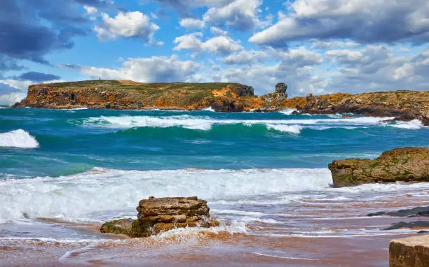
{"label": "large moss-covered brown rock jutting from right edge into the foam", "polygon": [[429,147],[404,147],[377,159],[344,159],[329,164],[334,187],[374,182],[429,182]]}

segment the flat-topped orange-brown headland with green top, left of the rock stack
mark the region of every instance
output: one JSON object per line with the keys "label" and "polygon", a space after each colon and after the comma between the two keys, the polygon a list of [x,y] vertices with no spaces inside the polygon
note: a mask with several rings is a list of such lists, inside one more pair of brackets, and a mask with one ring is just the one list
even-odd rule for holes
{"label": "flat-topped orange-brown headland with green top, left of the rock stack", "polygon": [[243,111],[243,99],[256,98],[253,88],[228,83],[151,83],[91,80],[31,85],[27,98],[13,107],[184,109],[212,107]]}

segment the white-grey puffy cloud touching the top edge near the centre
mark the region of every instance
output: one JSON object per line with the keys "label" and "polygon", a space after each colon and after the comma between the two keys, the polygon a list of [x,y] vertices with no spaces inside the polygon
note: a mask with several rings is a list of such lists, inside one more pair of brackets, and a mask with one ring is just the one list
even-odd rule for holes
{"label": "white-grey puffy cloud touching the top edge near the centre", "polygon": [[261,0],[235,0],[226,6],[209,8],[204,14],[205,22],[234,29],[254,29],[259,21]]}

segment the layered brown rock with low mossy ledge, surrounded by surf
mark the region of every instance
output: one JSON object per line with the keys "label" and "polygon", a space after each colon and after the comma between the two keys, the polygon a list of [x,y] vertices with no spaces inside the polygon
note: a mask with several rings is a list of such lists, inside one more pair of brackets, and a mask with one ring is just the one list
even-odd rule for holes
{"label": "layered brown rock with low mossy ledge, surrounded by surf", "polygon": [[102,225],[102,233],[120,233],[131,238],[156,235],[176,228],[219,226],[210,219],[207,201],[194,197],[144,199],[137,207],[138,219],[119,219]]}

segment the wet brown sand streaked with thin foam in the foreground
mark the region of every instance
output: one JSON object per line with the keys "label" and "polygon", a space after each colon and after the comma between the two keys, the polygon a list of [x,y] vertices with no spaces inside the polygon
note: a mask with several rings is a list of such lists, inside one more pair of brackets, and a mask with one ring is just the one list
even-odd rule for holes
{"label": "wet brown sand streaked with thin foam in the foreground", "polygon": [[243,205],[250,214],[264,215],[245,224],[243,231],[231,230],[234,217],[222,215],[222,210],[212,212],[222,221],[220,228],[177,229],[136,239],[98,233],[99,224],[41,219],[92,238],[74,242],[2,238],[0,266],[388,266],[389,241],[414,236],[417,231],[382,229],[424,217],[365,215],[429,205],[424,188],[406,191],[413,193],[348,199],[301,197],[288,204]]}

